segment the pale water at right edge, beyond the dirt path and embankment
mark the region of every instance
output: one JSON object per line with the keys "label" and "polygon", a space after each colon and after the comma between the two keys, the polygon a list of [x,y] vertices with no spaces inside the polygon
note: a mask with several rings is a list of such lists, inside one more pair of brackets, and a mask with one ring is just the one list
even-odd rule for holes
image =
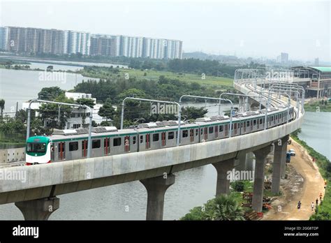
{"label": "pale water at right edge, beyond the dirt path and embankment", "polygon": [[299,138],[331,161],[331,112],[306,112]]}

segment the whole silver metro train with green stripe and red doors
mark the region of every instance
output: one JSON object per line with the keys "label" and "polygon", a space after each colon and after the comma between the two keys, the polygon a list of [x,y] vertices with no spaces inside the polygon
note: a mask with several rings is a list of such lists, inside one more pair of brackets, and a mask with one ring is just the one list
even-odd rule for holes
{"label": "whole silver metro train with green stripe and red doors", "polygon": [[[263,130],[265,112],[263,109],[235,113],[231,136]],[[287,116],[287,105],[268,108],[267,128],[285,124]],[[289,121],[293,119],[295,112],[291,106]],[[177,126],[178,121],[156,121],[122,130],[115,126],[95,127],[91,134],[91,157],[175,147]],[[201,117],[192,123],[182,121],[180,146],[228,138],[229,128],[228,116]],[[26,147],[27,165],[84,159],[87,157],[87,142],[87,128],[56,130],[50,136],[30,137]]]}

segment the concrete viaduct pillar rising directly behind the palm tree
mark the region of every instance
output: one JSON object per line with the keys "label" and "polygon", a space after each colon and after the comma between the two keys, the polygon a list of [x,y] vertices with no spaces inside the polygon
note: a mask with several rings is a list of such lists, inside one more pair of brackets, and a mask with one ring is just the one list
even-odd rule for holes
{"label": "concrete viaduct pillar rising directly behind the palm tree", "polygon": [[216,196],[230,193],[230,179],[227,177],[228,171],[235,168],[235,159],[212,163],[212,165],[217,171]]}

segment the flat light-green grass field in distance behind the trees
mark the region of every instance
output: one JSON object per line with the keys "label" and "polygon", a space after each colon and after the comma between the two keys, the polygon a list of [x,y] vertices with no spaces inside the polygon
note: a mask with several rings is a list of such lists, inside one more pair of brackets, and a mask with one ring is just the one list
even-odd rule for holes
{"label": "flat light-green grass field in distance behind the trees", "polygon": [[164,75],[165,78],[178,79],[184,82],[198,82],[199,84],[233,87],[233,79],[231,78],[222,78],[222,77],[214,77],[207,75],[203,77],[203,75],[195,75],[189,73],[172,73],[168,71],[153,71],[153,70],[140,71],[136,69],[126,69],[126,68],[121,68],[120,71],[123,75],[128,73],[128,76],[130,78],[136,77],[140,79],[145,78],[147,80],[158,80],[159,76]]}

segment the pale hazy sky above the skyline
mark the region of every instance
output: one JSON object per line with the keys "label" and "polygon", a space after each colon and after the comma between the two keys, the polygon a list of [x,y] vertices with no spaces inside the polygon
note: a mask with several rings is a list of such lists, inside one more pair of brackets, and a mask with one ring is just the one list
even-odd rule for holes
{"label": "pale hazy sky above the skyline", "polygon": [[0,0],[0,25],[171,38],[184,52],[331,61],[330,1]]}

